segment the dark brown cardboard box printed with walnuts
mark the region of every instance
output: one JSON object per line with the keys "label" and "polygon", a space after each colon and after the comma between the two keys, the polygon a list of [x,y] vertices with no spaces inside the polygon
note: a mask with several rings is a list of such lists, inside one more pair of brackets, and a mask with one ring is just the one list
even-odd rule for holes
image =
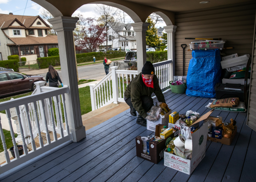
{"label": "dark brown cardboard box printed with walnuts", "polygon": [[[155,136],[160,136],[161,129],[164,128],[165,125],[158,124],[156,125]],[[142,151],[142,140],[141,136],[136,137],[136,155],[142,159],[148,160],[157,164],[164,158],[164,150],[166,149],[166,145],[172,140],[173,137],[178,135],[178,129],[172,128],[173,133],[164,140],[158,141],[150,141],[149,142],[149,154],[144,154]]]}

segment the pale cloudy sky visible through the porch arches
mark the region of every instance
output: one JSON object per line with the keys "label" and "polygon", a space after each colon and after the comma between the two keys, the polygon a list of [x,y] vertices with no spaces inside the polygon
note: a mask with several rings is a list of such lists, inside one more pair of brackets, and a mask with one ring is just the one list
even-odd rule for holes
{"label": "pale cloudy sky visible through the porch arches", "polygon": [[[97,18],[99,15],[94,11],[96,6],[96,4],[85,4],[78,8],[72,16],[82,14],[84,17]],[[27,8],[25,9],[25,7]],[[31,0],[0,0],[0,14],[12,12],[14,15],[37,16],[40,15],[42,9],[42,6]],[[133,23],[132,20],[128,20],[128,22]],[[166,26],[164,22],[156,24],[157,28],[163,26]]]}

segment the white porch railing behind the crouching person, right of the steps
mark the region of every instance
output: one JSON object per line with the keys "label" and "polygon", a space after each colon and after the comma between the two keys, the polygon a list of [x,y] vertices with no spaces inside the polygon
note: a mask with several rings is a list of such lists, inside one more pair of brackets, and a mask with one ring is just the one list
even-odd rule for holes
{"label": "white porch railing behind the crouching person, right of the steps", "polygon": [[[171,64],[172,60],[153,64],[155,67],[155,75],[159,80],[159,86],[162,90],[166,90],[169,87],[169,81],[172,80]],[[89,85],[93,111],[110,103],[117,104],[119,102],[125,102],[125,89],[130,81],[138,75],[138,71],[117,70],[117,66],[110,68],[111,72],[99,83]]]}

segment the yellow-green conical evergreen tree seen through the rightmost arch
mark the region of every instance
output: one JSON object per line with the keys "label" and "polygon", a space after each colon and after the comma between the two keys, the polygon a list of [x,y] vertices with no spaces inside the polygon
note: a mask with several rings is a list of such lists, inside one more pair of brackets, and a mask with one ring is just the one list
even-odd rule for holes
{"label": "yellow-green conical evergreen tree seen through the rightmost arch", "polygon": [[146,32],[146,44],[151,47],[158,46],[161,43],[161,40],[157,35],[155,23],[153,23],[150,17],[147,18],[146,22],[150,23]]}

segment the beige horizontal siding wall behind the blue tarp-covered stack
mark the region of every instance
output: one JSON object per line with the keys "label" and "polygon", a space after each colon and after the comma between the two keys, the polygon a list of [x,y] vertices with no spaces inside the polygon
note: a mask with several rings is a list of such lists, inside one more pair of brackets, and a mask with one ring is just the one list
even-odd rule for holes
{"label": "beige horizontal siding wall behind the blue tarp-covered stack", "polygon": [[224,47],[233,47],[233,49],[221,51],[222,53],[251,55],[255,11],[256,2],[175,13],[175,25],[178,26],[175,32],[175,75],[182,75],[183,70],[181,44],[187,44],[185,75],[192,58],[192,51],[187,50],[193,40],[184,38],[222,38],[227,40]]}

